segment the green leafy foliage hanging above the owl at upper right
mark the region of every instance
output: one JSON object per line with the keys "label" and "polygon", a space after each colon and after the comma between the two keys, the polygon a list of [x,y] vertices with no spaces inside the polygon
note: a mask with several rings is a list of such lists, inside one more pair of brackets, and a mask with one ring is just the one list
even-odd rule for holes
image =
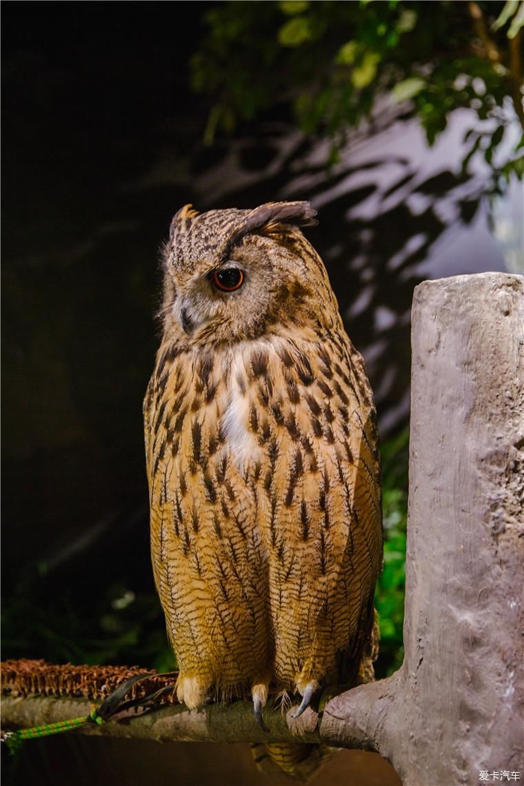
{"label": "green leafy foliage hanging above the owl at upper right", "polygon": [[207,11],[192,86],[210,100],[205,137],[275,107],[307,134],[332,141],[389,105],[417,116],[431,144],[450,112],[469,108],[465,167],[482,151],[497,177],[524,159],[497,159],[522,109],[524,2],[224,2]]}

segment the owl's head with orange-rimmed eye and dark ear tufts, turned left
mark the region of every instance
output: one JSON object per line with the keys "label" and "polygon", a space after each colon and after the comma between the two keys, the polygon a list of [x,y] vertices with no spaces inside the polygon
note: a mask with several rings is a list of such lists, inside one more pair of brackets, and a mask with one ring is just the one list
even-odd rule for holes
{"label": "owl's head with orange-rimmed eye and dark ear tufts, turned left", "polygon": [[308,202],[178,211],[163,248],[164,331],[189,344],[232,343],[318,321],[332,292],[299,230],[315,215]]}

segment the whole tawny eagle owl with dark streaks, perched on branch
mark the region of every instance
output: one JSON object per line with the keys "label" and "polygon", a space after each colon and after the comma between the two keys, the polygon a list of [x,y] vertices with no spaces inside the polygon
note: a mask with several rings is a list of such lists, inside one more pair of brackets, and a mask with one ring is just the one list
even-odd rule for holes
{"label": "whole tawny eagle owl with dark streaks, perched on branch", "polygon": [[145,396],[151,550],[178,699],[356,678],[382,559],[376,417],[307,202],[186,205]]}

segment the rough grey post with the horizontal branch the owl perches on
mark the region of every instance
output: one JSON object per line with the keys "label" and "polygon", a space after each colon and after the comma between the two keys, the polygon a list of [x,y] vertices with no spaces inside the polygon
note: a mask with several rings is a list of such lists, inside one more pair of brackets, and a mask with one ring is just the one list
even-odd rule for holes
{"label": "rough grey post with the horizontal branch the owl perches on", "polygon": [[[163,707],[87,733],[154,740],[324,741],[378,751],[404,786],[521,771],[524,281],[425,281],[412,314],[405,660],[291,722],[250,702]],[[2,701],[5,727],[88,714],[85,699]]]}

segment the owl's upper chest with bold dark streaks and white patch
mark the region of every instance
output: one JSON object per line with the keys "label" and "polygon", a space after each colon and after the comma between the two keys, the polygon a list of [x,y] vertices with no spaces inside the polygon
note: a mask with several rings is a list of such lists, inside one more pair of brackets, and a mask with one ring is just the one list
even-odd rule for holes
{"label": "owl's upper chest with bold dark streaks and white patch", "polygon": [[372,413],[351,350],[339,336],[161,347],[145,400],[150,478],[164,467],[171,485],[182,474],[211,490],[233,475],[289,499],[294,482],[321,483],[326,457],[348,476]]}

